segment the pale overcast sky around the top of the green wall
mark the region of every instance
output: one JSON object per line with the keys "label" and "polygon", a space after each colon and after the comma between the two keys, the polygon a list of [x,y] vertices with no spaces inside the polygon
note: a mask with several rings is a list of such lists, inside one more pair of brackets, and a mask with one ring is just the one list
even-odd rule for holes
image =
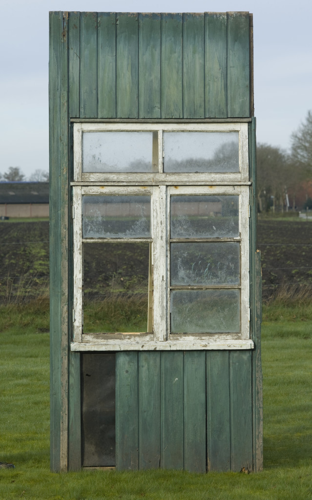
{"label": "pale overcast sky around the top of the green wall", "polygon": [[0,173],[48,169],[48,11],[253,13],[257,141],[287,149],[312,108],[311,0],[1,0]]}

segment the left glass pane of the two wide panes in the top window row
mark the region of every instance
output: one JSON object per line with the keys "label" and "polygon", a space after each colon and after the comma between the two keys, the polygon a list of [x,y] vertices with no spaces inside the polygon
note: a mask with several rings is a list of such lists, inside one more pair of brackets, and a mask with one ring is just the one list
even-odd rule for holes
{"label": "left glass pane of the two wide panes in the top window row", "polygon": [[151,172],[152,132],[83,132],[83,172]]}

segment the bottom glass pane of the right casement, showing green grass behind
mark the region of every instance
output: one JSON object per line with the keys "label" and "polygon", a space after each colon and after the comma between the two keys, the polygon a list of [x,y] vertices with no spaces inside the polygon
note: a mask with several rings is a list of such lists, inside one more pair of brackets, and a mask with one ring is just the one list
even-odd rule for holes
{"label": "bottom glass pane of the right casement, showing green grass behind", "polygon": [[238,333],[239,290],[172,290],[171,333]]}

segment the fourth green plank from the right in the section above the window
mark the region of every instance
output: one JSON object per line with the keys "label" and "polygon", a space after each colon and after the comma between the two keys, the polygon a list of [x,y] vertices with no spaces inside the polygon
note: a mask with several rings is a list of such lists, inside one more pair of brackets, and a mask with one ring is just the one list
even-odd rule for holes
{"label": "fourth green plank from the right in the section above the window", "polygon": [[161,14],[161,118],[183,117],[182,14]]}

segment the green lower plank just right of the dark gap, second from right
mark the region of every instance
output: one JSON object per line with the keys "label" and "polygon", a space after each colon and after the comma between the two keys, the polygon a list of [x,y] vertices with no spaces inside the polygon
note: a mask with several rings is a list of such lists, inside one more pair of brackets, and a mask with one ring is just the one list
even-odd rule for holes
{"label": "green lower plank just right of the dark gap, second from right", "polygon": [[230,469],[228,351],[207,351],[206,369],[208,471],[225,471]]}

